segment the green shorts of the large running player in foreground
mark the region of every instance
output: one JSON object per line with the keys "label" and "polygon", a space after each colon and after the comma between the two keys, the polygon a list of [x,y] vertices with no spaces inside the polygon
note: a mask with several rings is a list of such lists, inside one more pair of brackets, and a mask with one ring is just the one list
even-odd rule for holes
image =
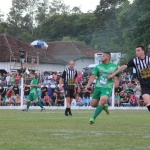
{"label": "green shorts of the large running player in foreground", "polygon": [[112,94],[111,88],[96,87],[94,89],[92,99],[100,100],[100,97],[102,97],[102,96],[107,96],[109,98],[111,96],[111,94]]}

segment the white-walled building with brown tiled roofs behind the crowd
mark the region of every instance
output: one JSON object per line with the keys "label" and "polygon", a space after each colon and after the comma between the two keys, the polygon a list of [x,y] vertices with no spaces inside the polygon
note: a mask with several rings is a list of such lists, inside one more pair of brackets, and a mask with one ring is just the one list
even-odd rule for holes
{"label": "white-walled building with brown tiled roofs behind the crowd", "polygon": [[19,48],[22,48],[27,54],[26,67],[39,72],[62,72],[67,67],[69,60],[74,60],[76,69],[82,70],[94,63],[94,54],[100,52],[74,42],[48,42],[47,44],[49,47],[46,50],[33,48],[30,47],[30,43],[19,41],[7,34],[1,34],[0,69],[11,72],[21,68]]}

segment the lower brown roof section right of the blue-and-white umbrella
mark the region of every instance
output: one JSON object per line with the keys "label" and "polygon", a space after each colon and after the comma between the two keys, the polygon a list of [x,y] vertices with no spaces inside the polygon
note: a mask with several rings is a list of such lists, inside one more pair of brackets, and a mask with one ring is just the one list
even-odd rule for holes
{"label": "lower brown roof section right of the blue-and-white umbrella", "polygon": [[100,53],[100,50],[83,46],[74,42],[48,42],[48,52],[63,61],[77,60],[80,58],[93,59],[95,53]]}

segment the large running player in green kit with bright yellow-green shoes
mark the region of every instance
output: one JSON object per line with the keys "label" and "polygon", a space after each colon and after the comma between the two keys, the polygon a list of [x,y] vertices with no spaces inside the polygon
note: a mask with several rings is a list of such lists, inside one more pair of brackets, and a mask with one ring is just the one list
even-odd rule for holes
{"label": "large running player in green kit with bright yellow-green shoes", "polygon": [[[89,82],[85,88],[87,90],[93,81],[96,79],[96,86],[94,89],[94,93],[92,95],[91,106],[96,107],[96,110],[90,119],[89,123],[94,124],[96,117],[105,110],[107,114],[109,114],[108,104],[106,104],[107,100],[111,96],[112,88],[114,85],[114,79],[107,79],[110,74],[118,69],[116,64],[110,62],[111,54],[109,52],[103,52],[102,55],[102,63],[97,65],[93,72],[92,76],[89,79]],[[121,76],[118,74],[116,80],[116,86],[119,85],[119,81]]]}

